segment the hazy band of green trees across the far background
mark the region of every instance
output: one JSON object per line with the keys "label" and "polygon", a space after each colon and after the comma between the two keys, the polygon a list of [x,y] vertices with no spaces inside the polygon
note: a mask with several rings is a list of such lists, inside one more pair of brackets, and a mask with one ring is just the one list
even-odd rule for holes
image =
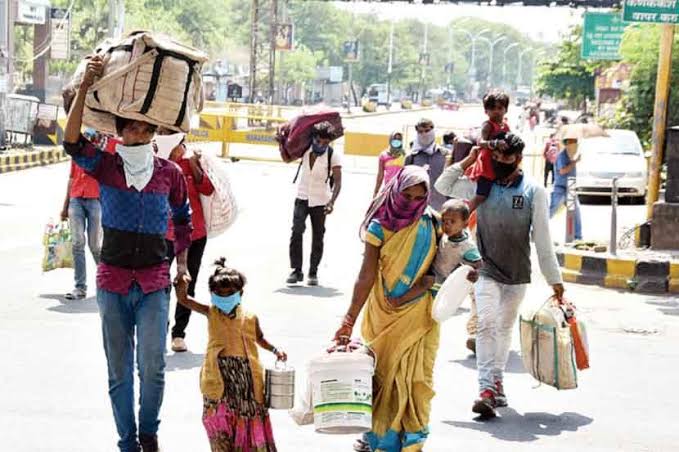
{"label": "hazy band of green trees across the far background", "polygon": [[[55,7],[68,7],[70,0],[53,0]],[[267,2],[262,2],[263,22],[268,19]],[[281,53],[277,73],[282,82],[313,79],[316,66],[341,66],[342,43],[357,39],[360,42],[360,61],[353,64],[353,79],[358,91],[373,83],[386,83],[388,75],[389,34],[391,23],[374,15],[353,14],[330,2],[288,0],[279,1],[281,21],[289,20],[295,26],[295,49]],[[108,0],[78,0],[72,14],[71,58],[68,61],[51,61],[50,72],[65,79],[75,70],[79,61],[100,44],[108,35]],[[125,28],[152,30],[166,33],[181,42],[206,50],[213,59],[226,59],[230,63],[247,64],[250,47],[249,0],[126,0]],[[449,33],[452,27],[454,33]],[[30,27],[28,27],[30,28]],[[264,25],[264,29],[268,29]],[[428,49],[430,65],[422,70],[419,64],[423,51],[424,25],[413,19],[394,23],[394,59],[391,82],[394,89],[416,92],[422,88],[444,87],[450,83],[462,93],[469,85],[471,42],[468,35],[486,29],[485,37],[508,39],[495,47],[495,64],[492,84],[501,85],[517,79],[517,50],[509,52],[507,68],[503,71],[504,49],[510,42],[521,48],[538,47],[525,35],[507,25],[482,19],[458,19],[447,27],[429,26]],[[266,33],[263,33],[264,35]],[[24,55],[32,58],[29,36],[22,36]],[[18,44],[19,46],[19,44]],[[454,73],[449,76],[444,67],[451,60]],[[527,63],[528,59],[525,59]],[[489,48],[482,40],[476,45],[477,79],[485,83],[488,78]],[[530,65],[524,65],[522,77],[531,75]],[[20,67],[29,74],[29,63]],[[345,74],[347,74],[345,70]],[[503,80],[506,73],[507,80]],[[266,78],[264,72],[263,80]]]}

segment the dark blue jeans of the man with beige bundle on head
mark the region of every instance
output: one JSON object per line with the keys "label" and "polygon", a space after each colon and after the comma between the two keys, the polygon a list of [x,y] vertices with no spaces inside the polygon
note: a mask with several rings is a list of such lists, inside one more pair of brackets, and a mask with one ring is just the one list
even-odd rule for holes
{"label": "dark blue jeans of the man with beige bundle on head", "polygon": [[126,295],[97,290],[97,304],[108,363],[108,393],[121,452],[137,451],[134,413],[134,353],[137,333],[139,433],[158,432],[165,388],[165,338],[170,288],[144,294],[133,283]]}

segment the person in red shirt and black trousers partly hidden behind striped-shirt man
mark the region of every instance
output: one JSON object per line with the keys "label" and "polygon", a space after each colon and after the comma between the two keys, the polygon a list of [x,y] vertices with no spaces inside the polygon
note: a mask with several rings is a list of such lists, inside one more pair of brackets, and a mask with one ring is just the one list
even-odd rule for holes
{"label": "person in red shirt and black trousers partly hidden behind striped-shirt man", "polygon": [[[160,157],[166,157],[179,165],[186,179],[186,188],[189,191],[193,231],[191,232],[191,246],[187,258],[189,275],[191,276],[188,293],[193,297],[196,295],[196,282],[207,245],[207,229],[205,228],[205,216],[200,196],[210,196],[215,189],[200,165],[200,152],[194,150],[190,157],[186,157],[185,140],[186,135],[183,133],[175,133],[160,128],[156,134],[155,143]],[[174,261],[174,227],[171,221],[167,227],[167,257],[171,266]],[[190,318],[191,310],[181,303],[177,303],[174,311],[174,326],[172,327],[172,351],[181,353],[188,350],[185,338],[186,327],[189,325]]]}

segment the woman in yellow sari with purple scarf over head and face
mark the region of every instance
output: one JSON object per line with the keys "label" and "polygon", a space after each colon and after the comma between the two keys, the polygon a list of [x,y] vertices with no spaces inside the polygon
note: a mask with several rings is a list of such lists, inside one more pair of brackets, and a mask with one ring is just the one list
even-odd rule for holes
{"label": "woman in yellow sari with purple scarf over head and face", "polygon": [[426,170],[404,167],[375,198],[361,227],[363,265],[335,335],[347,343],[365,305],[361,334],[377,362],[373,429],[357,450],[417,452],[428,435],[439,345],[427,275],[439,231],[428,201]]}

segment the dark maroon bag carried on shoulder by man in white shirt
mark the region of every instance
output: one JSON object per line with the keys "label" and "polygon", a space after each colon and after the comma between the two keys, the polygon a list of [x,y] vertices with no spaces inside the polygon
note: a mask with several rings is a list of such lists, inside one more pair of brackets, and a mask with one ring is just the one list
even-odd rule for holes
{"label": "dark maroon bag carried on shoulder by man in white shirt", "polygon": [[335,129],[331,141],[344,135],[342,118],[337,111],[322,110],[301,114],[283,124],[276,133],[281,159],[289,163],[301,158],[311,146],[313,126],[323,121],[328,121]]}

